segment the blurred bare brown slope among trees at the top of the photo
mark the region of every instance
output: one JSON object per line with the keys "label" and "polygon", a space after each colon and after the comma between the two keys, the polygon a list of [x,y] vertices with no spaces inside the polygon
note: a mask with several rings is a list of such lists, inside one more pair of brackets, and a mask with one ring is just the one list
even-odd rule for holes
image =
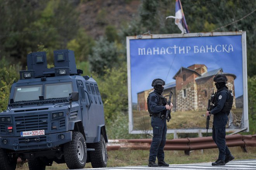
{"label": "blurred bare brown slope among trees at the top of the photo", "polygon": [[80,24],[93,38],[103,35],[108,25],[121,24],[138,15],[139,0],[89,0],[80,3]]}

